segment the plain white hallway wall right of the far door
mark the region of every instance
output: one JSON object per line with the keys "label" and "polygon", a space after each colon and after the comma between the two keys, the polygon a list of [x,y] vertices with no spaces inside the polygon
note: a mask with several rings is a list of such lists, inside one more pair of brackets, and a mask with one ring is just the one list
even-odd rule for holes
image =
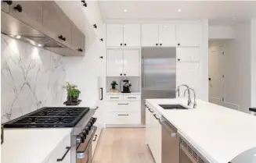
{"label": "plain white hallway wall right of the far door", "polygon": [[251,105],[251,22],[235,27],[236,39],[225,44],[225,101],[248,112]]}

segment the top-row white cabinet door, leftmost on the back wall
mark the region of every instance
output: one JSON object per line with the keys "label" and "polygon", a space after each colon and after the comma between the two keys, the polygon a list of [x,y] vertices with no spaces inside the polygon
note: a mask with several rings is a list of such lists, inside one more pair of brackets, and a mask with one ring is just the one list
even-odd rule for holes
{"label": "top-row white cabinet door, leftmost on the back wall", "polygon": [[106,46],[120,47],[123,46],[123,25],[106,24]]}

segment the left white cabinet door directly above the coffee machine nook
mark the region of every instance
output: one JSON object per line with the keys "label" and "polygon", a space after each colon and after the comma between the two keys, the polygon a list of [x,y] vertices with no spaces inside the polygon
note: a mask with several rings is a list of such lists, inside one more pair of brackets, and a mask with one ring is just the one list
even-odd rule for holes
{"label": "left white cabinet door directly above the coffee machine nook", "polygon": [[123,51],[119,49],[107,50],[106,76],[122,76],[122,75],[123,75]]}

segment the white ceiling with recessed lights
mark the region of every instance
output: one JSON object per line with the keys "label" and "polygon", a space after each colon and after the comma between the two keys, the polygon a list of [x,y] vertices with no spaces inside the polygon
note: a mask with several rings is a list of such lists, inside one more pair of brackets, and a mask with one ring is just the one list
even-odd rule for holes
{"label": "white ceiling with recessed lights", "polygon": [[[223,1],[101,1],[104,20],[164,20],[164,19],[221,19],[256,18],[256,2]],[[127,9],[128,12],[124,12]],[[178,12],[182,9],[182,12]],[[233,20],[232,20],[233,21]],[[216,21],[213,21],[216,23]]]}

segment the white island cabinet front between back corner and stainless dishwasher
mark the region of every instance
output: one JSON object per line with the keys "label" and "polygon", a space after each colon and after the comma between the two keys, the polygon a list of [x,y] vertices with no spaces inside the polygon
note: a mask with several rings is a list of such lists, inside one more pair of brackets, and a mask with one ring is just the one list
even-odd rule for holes
{"label": "white island cabinet front between back corner and stainless dishwasher", "polygon": [[161,163],[161,125],[159,122],[160,114],[153,110],[150,105],[146,105],[146,144],[149,145],[150,151],[156,163]]}

